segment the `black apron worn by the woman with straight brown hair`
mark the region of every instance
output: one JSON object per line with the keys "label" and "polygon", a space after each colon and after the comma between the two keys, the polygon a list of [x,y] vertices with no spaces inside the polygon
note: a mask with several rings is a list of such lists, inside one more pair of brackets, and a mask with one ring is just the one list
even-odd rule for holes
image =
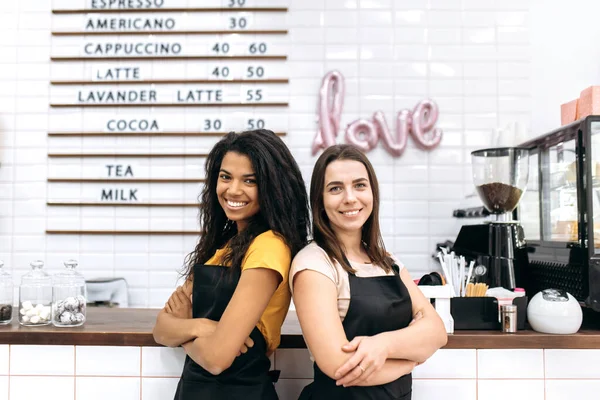
{"label": "black apron worn by the woman with straight brown hair", "polygon": [[[350,304],[342,322],[348,340],[356,336],[374,336],[381,332],[406,328],[412,320],[412,301],[399,276],[359,278],[348,273]],[[315,379],[306,386],[299,400],[410,400],[412,374],[377,386],[336,386],[314,363]]]}

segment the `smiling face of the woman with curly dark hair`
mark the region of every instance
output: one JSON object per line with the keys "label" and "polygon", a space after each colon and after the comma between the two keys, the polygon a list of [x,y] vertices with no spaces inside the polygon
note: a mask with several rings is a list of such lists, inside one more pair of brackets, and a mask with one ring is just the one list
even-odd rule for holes
{"label": "smiling face of the woman with curly dark hair", "polygon": [[238,231],[244,230],[248,220],[259,212],[256,176],[247,156],[232,151],[225,154],[217,180],[217,197]]}

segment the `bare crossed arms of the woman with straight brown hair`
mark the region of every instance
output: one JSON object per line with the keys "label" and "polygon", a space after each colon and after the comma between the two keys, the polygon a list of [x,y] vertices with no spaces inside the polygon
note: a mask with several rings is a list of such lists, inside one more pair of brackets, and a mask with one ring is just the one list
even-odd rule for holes
{"label": "bare crossed arms of the woman with straight brown hair", "polygon": [[294,277],[294,304],[308,347],[319,368],[339,385],[394,381],[446,344],[445,328],[435,309],[406,269],[400,277],[411,296],[413,316],[418,317],[404,329],[357,337],[350,343],[339,318],[333,282],[311,270]]}

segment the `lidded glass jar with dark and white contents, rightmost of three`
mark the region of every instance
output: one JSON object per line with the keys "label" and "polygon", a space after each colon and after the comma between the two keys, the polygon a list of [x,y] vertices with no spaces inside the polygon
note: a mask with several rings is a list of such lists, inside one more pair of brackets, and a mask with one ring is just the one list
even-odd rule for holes
{"label": "lidded glass jar with dark and white contents, rightmost of three", "polygon": [[65,269],[54,275],[52,284],[52,324],[81,326],[85,322],[86,287],[83,275],[75,270],[77,261],[65,261]]}

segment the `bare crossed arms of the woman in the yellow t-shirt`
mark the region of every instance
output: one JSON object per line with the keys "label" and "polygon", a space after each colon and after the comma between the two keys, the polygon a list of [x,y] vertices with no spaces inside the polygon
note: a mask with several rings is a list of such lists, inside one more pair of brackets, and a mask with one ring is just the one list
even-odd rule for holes
{"label": "bare crossed arms of the woman in the yellow t-shirt", "polygon": [[[182,345],[187,355],[213,375],[219,375],[235,360],[240,349],[251,346],[248,338],[266,309],[269,300],[281,282],[281,275],[271,269],[253,268],[242,272],[233,297],[219,321],[206,318],[192,318],[191,302],[178,308],[177,316],[170,304],[177,306],[181,297],[173,294],[178,302],[169,299],[156,319],[154,340],[165,346]],[[181,289],[184,299],[192,292],[191,281]],[[174,300],[174,299],[173,299]],[[185,303],[185,301],[183,301]],[[184,311],[182,311],[184,310]]]}

